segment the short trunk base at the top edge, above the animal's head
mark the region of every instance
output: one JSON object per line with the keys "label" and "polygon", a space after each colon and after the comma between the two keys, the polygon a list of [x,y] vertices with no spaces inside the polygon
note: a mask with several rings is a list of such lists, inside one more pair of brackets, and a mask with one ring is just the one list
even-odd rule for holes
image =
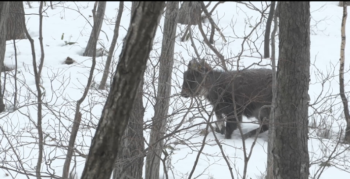
{"label": "short trunk base at the top edge, above the animal's head", "polygon": [[178,11],[176,22],[182,25],[197,25],[201,20],[201,12],[199,1],[184,1]]}

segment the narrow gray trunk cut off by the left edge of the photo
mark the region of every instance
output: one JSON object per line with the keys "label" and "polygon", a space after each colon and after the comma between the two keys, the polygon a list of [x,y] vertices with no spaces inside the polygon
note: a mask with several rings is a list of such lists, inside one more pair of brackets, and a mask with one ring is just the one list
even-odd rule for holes
{"label": "narrow gray trunk cut off by the left edge of the photo", "polygon": [[[5,59],[6,51],[6,22],[8,18],[10,2],[1,1],[0,2],[0,74],[2,72],[3,60]],[[0,84],[0,91],[2,91]],[[3,103],[3,94],[0,92],[0,113],[5,110],[5,104]]]}

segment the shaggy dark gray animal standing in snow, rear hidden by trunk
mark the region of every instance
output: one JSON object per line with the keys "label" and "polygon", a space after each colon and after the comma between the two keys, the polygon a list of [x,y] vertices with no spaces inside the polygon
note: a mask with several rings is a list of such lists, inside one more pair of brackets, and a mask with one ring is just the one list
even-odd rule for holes
{"label": "shaggy dark gray animal standing in snow, rear hidden by trunk", "polygon": [[[204,96],[210,101],[218,120],[216,132],[225,133],[226,139],[237,129],[237,119],[242,121],[245,117],[255,117],[260,121],[269,119],[270,108],[260,108],[271,105],[272,102],[272,70],[271,69],[245,69],[242,71],[223,72],[212,69],[205,60],[191,60],[183,74],[181,96]],[[234,100],[233,100],[234,99]],[[236,104],[237,118],[235,118],[234,103]],[[224,119],[226,118],[226,128]],[[260,133],[269,129],[263,124]],[[244,139],[257,133],[252,130],[242,136]]]}

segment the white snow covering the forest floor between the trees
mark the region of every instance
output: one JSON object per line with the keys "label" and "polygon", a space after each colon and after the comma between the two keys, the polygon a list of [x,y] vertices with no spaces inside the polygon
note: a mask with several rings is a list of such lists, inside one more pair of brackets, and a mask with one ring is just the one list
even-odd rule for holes
{"label": "white snow covering the forest floor between the trees", "polygon": [[[209,10],[215,5],[212,2]],[[252,2],[259,9],[265,9],[266,2]],[[41,172],[43,176],[62,176],[62,168],[67,152],[68,140],[76,101],[82,96],[83,89],[87,84],[87,77],[92,64],[91,58],[83,57],[84,48],[91,33],[92,8],[94,2],[64,2],[55,5],[55,9],[48,8],[43,18],[43,44],[44,44],[44,67],[42,69],[42,87],[44,89],[43,101],[43,122],[44,132],[44,162]],[[25,4],[27,29],[35,40],[36,59],[40,59],[39,17],[38,3],[33,2],[33,8]],[[127,33],[130,22],[131,2],[124,3],[124,12],[121,19],[121,27],[115,49],[114,66],[110,70],[115,71],[115,64],[118,60],[122,48],[122,40]],[[113,36],[114,22],[117,14],[119,2],[107,2],[105,10],[105,23],[100,33],[100,42],[109,49]],[[266,11],[268,12],[268,10]],[[338,143],[341,128],[345,128],[345,120],[342,115],[342,103],[339,93],[339,58],[341,42],[341,18],[342,7],[338,2],[311,2],[311,84],[309,94],[311,104],[309,108],[310,124],[321,129],[310,129],[309,154],[310,178],[317,178],[322,170],[322,166],[329,157],[329,166],[325,167],[319,179],[349,179],[350,178],[350,150],[349,146]],[[270,64],[270,59],[261,59],[263,54],[263,39],[266,19],[261,18],[260,12],[252,10],[244,4],[236,2],[225,2],[219,4],[213,13],[212,18],[222,30],[226,43],[215,32],[215,48],[229,59],[229,68],[236,69],[237,60],[240,57],[240,67],[247,67],[250,64],[260,62],[261,65]],[[260,23],[261,22],[261,23]],[[154,50],[151,52],[149,63],[155,65],[160,56],[162,27],[164,17],[161,20],[154,40]],[[347,25],[347,34],[350,34],[350,27]],[[209,22],[203,24],[203,29],[210,35]],[[208,28],[209,27],[209,28]],[[180,98],[178,93],[181,90],[183,71],[186,64],[195,56],[190,41],[181,42],[181,31],[185,26],[178,25],[177,38],[175,43],[175,64],[172,76],[171,108],[169,114],[173,114],[169,119],[169,131],[181,123],[183,116],[190,107],[190,99]],[[252,33],[251,33],[252,32]],[[64,33],[63,40],[61,37]],[[248,34],[249,40],[244,42],[244,37]],[[202,58],[209,59],[212,66],[217,66],[213,52],[203,43],[203,36],[197,27],[193,28],[195,45]],[[66,45],[66,42],[76,42],[73,45]],[[278,56],[278,37],[276,37],[276,54]],[[244,44],[242,45],[242,43]],[[242,53],[243,51],[243,53]],[[346,57],[350,57],[350,46],[346,47]],[[241,54],[242,53],[242,54]],[[35,79],[32,63],[32,51],[28,39],[16,40],[17,55],[17,101],[16,110],[13,106],[15,81],[14,70],[1,74],[1,83],[5,81],[4,99],[6,111],[0,114],[0,178],[27,179],[23,174],[29,174],[30,179],[34,179],[35,166],[38,157],[37,130],[35,128],[37,119],[37,106],[35,104]],[[72,65],[63,64],[67,57],[72,58],[76,63]],[[213,59],[214,57],[214,59]],[[277,57],[278,58],[278,57]],[[81,104],[82,123],[76,139],[76,157],[70,165],[78,178],[80,178],[84,168],[85,159],[79,155],[87,155],[92,137],[98,120],[101,116],[105,103],[107,90],[94,89],[102,78],[106,56],[97,58],[97,66],[94,71],[92,89],[85,101]],[[7,67],[15,68],[15,50],[13,41],[6,41],[6,53],[4,64]],[[350,69],[349,60],[346,59],[345,71]],[[254,65],[252,67],[259,67]],[[271,66],[264,66],[271,68]],[[146,107],[144,116],[145,124],[149,124],[153,117],[154,88],[151,85],[152,77],[157,78],[158,67],[149,65],[145,74],[145,97],[143,104]],[[349,87],[349,72],[345,74],[346,91]],[[110,79],[108,80],[110,84]],[[206,110],[209,114],[211,108],[203,100],[201,113],[195,108],[195,104],[190,113],[184,118],[181,128],[205,122],[200,115]],[[205,118],[208,115],[204,115]],[[252,121],[246,119],[244,121]],[[243,132],[258,127],[257,124],[243,123]],[[204,139],[203,129],[206,124],[194,125],[188,130],[181,130],[176,135],[166,139],[165,143],[171,153],[167,160],[167,169],[171,179],[187,179],[198,156],[198,151],[202,147]],[[323,129],[323,130],[322,130]],[[328,133],[326,133],[329,131]],[[243,177],[244,171],[244,147],[242,145],[239,131],[235,131],[232,139],[226,140],[221,134],[215,134],[222,146],[215,142],[213,133],[209,133],[206,138],[206,145],[201,151],[198,164],[195,167],[192,178],[198,179],[226,179],[231,178],[229,167],[222,156],[222,152],[229,159],[230,166],[235,179]],[[342,133],[344,135],[344,132]],[[144,131],[144,137],[149,140],[149,130]],[[247,166],[247,179],[259,179],[266,171],[267,161],[267,133],[259,135],[255,146],[252,148],[253,139],[245,141],[245,150],[249,153],[252,149],[251,157]],[[74,162],[75,161],[75,162]],[[25,171],[24,171],[24,170]],[[165,177],[161,164],[160,178]],[[16,172],[17,171],[17,172]],[[31,176],[32,175],[32,176]]]}

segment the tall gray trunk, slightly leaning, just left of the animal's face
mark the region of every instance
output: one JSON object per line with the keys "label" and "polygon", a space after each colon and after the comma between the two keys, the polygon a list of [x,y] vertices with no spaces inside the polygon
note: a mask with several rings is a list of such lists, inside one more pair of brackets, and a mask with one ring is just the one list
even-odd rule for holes
{"label": "tall gray trunk, slightly leaning, just left of the animal's face", "polygon": [[146,156],[146,175],[145,179],[159,179],[160,156],[162,155],[163,140],[155,143],[164,136],[167,124],[172,69],[174,64],[174,47],[176,32],[176,17],[178,13],[178,1],[167,2],[167,12],[164,20],[164,32],[162,42],[162,52],[160,55],[160,68],[158,79],[158,91],[156,103],[154,105],[154,117],[152,118],[152,128],[149,139],[150,152]]}

